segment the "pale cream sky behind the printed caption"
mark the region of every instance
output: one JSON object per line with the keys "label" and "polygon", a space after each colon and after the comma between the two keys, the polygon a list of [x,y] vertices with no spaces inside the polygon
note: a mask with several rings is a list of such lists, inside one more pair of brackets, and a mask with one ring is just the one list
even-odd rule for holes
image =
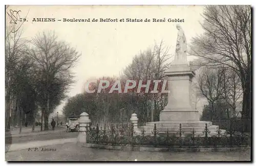
{"label": "pale cream sky behind the printed caption", "polygon": [[[155,41],[164,40],[170,46],[169,53],[174,54],[177,22],[168,22],[168,18],[184,19],[179,24],[188,43],[203,32],[200,25],[203,6],[10,6],[9,9],[20,10],[22,18],[29,12],[23,37],[31,39],[38,32],[54,30],[60,40],[70,43],[81,53],[74,68],[77,82],[70,90],[70,97],[82,92],[83,84],[91,77],[119,76],[137,53],[154,45]],[[56,18],[56,21],[32,22],[33,18]],[[63,18],[90,18],[91,22],[57,21]],[[166,21],[92,22],[93,18],[166,18]],[[61,111],[62,107],[63,104],[56,111]]]}

